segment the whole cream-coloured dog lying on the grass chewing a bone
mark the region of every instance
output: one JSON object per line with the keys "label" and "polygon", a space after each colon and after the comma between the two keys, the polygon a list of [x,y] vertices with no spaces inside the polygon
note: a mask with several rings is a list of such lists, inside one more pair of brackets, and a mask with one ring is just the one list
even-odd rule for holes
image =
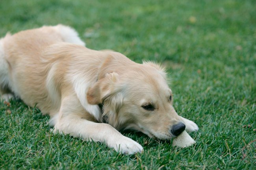
{"label": "whole cream-coloured dog lying on the grass chewing a bone", "polygon": [[14,95],[49,114],[54,132],[105,142],[126,154],[143,147],[117,130],[159,139],[176,137],[185,126],[188,132],[198,130],[175,112],[163,68],[85,48],[76,31],[62,25],[0,40],[0,93],[4,100]]}

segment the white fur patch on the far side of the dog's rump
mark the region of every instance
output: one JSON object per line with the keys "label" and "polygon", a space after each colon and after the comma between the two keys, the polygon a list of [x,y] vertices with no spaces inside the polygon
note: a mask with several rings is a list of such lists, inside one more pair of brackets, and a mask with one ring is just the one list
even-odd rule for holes
{"label": "white fur patch on the far side of the dog's rump", "polygon": [[73,28],[59,24],[54,26],[54,29],[61,35],[64,42],[85,46],[85,42],[80,39],[78,33]]}

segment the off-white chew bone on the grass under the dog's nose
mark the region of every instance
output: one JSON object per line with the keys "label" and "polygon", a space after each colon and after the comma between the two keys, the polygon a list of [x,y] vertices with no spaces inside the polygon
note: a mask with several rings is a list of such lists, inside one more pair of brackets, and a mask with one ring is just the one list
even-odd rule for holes
{"label": "off-white chew bone on the grass under the dog's nose", "polygon": [[184,131],[180,135],[178,135],[178,137],[173,138],[172,146],[186,148],[194,143],[196,143],[194,139],[192,139],[192,137],[189,136],[189,134],[186,131]]}

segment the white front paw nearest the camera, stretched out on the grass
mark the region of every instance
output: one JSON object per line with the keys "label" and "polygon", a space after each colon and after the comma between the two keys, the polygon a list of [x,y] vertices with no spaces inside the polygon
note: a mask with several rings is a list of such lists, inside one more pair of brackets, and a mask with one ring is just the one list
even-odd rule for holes
{"label": "white front paw nearest the camera, stretched out on the grass", "polygon": [[130,155],[138,152],[141,153],[143,151],[143,147],[139,143],[125,136],[122,136],[119,139],[113,138],[111,142],[108,143],[108,146],[122,154]]}

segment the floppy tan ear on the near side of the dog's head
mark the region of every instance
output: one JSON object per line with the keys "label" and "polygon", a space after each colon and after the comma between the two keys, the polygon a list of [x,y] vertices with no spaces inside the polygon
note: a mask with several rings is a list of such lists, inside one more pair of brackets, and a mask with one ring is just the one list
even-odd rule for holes
{"label": "floppy tan ear on the near side of the dog's head", "polygon": [[101,104],[102,101],[115,95],[119,88],[116,84],[119,75],[115,72],[106,74],[103,78],[98,80],[87,91],[87,101],[89,104]]}

